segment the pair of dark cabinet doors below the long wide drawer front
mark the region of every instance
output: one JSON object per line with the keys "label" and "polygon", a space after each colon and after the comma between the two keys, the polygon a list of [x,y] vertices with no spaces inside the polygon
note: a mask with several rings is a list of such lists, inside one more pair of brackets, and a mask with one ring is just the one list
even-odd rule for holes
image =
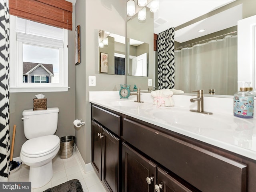
{"label": "pair of dark cabinet doors below the long wide drawer front", "polygon": [[122,145],[122,192],[195,192],[127,144]]}

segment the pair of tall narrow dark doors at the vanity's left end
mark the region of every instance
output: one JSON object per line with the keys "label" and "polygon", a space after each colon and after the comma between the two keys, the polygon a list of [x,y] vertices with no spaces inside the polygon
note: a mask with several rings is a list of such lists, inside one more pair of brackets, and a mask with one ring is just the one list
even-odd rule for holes
{"label": "pair of tall narrow dark doors at the vanity's left end", "polygon": [[[101,109],[94,108],[92,114],[98,114],[99,110]],[[114,118],[116,117],[114,116]],[[95,122],[93,116],[91,122],[91,153],[92,166],[105,188],[110,192],[118,192],[120,188],[120,139],[104,126],[104,122],[102,125]]]}

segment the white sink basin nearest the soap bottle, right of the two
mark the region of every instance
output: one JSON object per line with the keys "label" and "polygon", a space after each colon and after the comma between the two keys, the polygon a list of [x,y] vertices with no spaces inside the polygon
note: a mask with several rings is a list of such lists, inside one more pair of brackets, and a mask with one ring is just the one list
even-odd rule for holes
{"label": "white sink basin nearest the soap bottle, right of the two", "polygon": [[171,108],[170,110],[152,111],[155,120],[164,121],[176,127],[196,129],[196,132],[206,130],[238,130],[253,128],[252,122],[233,115],[214,113],[212,115],[191,112],[188,109]]}

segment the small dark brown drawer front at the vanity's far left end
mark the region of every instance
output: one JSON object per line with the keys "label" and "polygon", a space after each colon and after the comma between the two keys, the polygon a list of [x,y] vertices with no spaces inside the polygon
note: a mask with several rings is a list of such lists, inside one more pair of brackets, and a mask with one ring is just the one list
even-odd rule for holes
{"label": "small dark brown drawer front at the vanity's far left end", "polygon": [[92,119],[96,120],[110,131],[120,136],[120,116],[107,110],[92,106]]}

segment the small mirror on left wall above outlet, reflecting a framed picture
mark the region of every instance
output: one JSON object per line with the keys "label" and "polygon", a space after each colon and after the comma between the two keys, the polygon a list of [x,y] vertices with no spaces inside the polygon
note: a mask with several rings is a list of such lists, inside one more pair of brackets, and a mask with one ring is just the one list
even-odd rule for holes
{"label": "small mirror on left wall above outlet, reflecting a framed picture", "polygon": [[99,73],[125,75],[125,37],[98,30],[98,42]]}

